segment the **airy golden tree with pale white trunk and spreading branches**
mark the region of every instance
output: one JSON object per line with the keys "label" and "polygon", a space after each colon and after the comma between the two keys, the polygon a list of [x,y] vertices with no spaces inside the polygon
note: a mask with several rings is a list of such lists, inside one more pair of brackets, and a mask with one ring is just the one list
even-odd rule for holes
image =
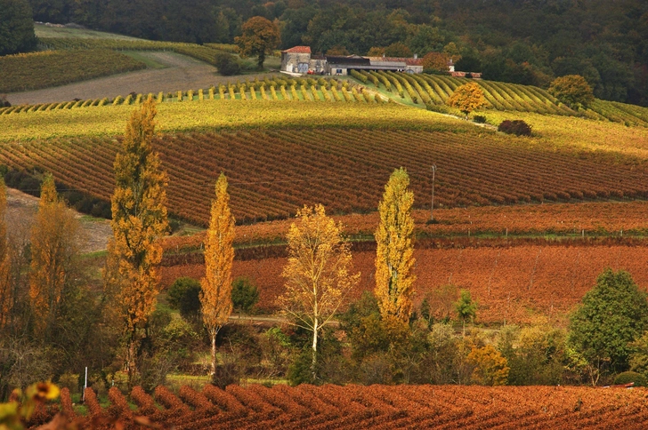
{"label": "airy golden tree with pale white trunk and spreading branches", "polygon": [[297,219],[288,230],[288,264],[281,274],[286,278],[286,292],[278,303],[296,326],[312,331],[314,382],[318,334],[358,284],[360,274],[350,274],[350,243],[342,238],[342,224],[328,218],[324,206],[304,206],[297,211]]}

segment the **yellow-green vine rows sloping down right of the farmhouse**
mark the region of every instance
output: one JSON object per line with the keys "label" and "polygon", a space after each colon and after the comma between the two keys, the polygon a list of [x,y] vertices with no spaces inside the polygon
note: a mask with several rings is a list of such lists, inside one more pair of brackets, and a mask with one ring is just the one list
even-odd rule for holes
{"label": "yellow-green vine rows sloping down right of the farmhouse", "polygon": [[[560,103],[545,90],[520,84],[472,80],[465,77],[438,76],[393,72],[353,72],[352,76],[363,84],[372,84],[378,90],[398,94],[401,100],[446,111],[445,102],[459,85],[475,82],[482,87],[489,108],[498,111],[532,112],[542,115],[579,115]],[[606,120],[625,125],[648,126],[648,108],[625,103],[596,100],[583,115],[589,119]],[[497,125],[497,123],[496,123]]]}

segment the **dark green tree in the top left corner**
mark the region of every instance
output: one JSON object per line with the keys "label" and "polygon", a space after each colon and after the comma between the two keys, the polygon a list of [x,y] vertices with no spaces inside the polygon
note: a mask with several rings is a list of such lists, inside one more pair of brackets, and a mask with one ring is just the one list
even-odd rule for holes
{"label": "dark green tree in the top left corner", "polygon": [[0,0],[0,56],[33,51],[36,42],[27,0]]}

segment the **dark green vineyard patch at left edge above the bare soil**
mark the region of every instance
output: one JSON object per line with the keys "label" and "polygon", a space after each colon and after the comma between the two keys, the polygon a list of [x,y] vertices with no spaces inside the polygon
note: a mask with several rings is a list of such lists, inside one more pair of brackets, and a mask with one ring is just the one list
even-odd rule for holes
{"label": "dark green vineyard patch at left edge above the bare soil", "polygon": [[[45,51],[0,57],[0,92],[22,92],[146,68],[106,49]],[[6,109],[0,109],[0,111]]]}

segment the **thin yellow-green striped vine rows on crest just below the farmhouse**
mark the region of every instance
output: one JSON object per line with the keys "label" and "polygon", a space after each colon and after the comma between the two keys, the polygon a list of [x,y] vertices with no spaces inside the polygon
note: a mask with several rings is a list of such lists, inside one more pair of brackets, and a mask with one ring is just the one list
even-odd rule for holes
{"label": "thin yellow-green striped vine rows on crest just below the farmhouse", "polygon": [[[121,54],[115,53],[115,55]],[[81,79],[83,79],[83,77],[81,77]],[[138,105],[142,103],[142,100],[148,98],[154,99],[158,103],[196,100],[291,100],[345,101],[359,103],[385,103],[387,101],[387,99],[377,93],[370,94],[366,88],[361,87],[360,85],[350,84],[350,81],[339,81],[322,77],[319,79],[281,79],[279,77],[270,79],[266,77],[263,81],[256,79],[254,81],[248,80],[237,82],[235,84],[216,84],[216,86],[212,86],[207,90],[188,90],[168,92],[166,94],[164,92],[158,92],[158,94],[128,94],[126,97],[118,96],[111,100],[104,98],[13,106],[0,108],[0,115],[72,108],[90,108],[93,106]]]}

